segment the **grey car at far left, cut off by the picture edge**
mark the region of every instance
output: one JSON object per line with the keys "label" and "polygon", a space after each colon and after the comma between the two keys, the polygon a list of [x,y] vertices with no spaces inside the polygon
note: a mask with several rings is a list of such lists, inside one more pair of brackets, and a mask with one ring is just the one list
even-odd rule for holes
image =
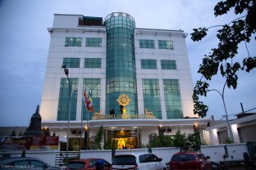
{"label": "grey car at far left, cut off by the picture edge", "polygon": [[0,169],[14,168],[14,169],[53,169],[59,170],[62,168],[53,167],[45,163],[41,159],[30,157],[7,157],[0,159]]}

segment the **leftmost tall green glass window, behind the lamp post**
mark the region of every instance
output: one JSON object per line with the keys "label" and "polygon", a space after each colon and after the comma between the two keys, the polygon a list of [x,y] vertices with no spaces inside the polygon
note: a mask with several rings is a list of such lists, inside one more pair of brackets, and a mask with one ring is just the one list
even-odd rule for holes
{"label": "leftmost tall green glass window, behind the lamp post", "polygon": [[[78,78],[69,78],[71,85],[71,116],[70,120],[75,120]],[[57,108],[57,120],[68,120],[70,102],[69,83],[67,78],[61,79],[59,103]]]}

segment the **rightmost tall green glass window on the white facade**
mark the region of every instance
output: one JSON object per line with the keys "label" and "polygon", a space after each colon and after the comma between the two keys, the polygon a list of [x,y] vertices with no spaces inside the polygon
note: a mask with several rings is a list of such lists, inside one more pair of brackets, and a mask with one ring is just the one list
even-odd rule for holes
{"label": "rightmost tall green glass window on the white facade", "polygon": [[181,92],[177,79],[163,79],[164,97],[167,108],[167,119],[181,119],[183,117]]}

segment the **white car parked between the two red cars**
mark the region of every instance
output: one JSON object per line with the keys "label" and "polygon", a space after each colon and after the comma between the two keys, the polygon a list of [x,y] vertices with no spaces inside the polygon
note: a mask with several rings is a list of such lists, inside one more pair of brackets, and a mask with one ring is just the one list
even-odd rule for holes
{"label": "white car parked between the two red cars", "polygon": [[112,170],[166,170],[162,158],[155,154],[117,154],[112,161]]}

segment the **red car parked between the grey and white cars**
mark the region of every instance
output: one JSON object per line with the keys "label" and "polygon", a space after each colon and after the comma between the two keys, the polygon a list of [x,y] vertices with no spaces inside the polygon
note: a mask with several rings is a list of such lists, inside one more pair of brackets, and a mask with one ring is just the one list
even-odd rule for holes
{"label": "red car parked between the grey and white cars", "polygon": [[70,161],[66,170],[96,170],[97,168],[111,170],[111,164],[105,159],[78,159]]}

